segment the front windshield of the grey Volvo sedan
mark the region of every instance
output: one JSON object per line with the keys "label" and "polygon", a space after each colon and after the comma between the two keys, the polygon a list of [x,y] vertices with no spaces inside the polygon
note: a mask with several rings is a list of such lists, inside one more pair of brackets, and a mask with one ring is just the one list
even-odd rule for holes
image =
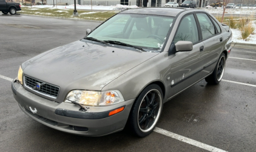
{"label": "front windshield of the grey Volvo sedan", "polygon": [[138,47],[160,50],[173,18],[169,16],[118,14],[96,28],[87,38],[119,41]]}

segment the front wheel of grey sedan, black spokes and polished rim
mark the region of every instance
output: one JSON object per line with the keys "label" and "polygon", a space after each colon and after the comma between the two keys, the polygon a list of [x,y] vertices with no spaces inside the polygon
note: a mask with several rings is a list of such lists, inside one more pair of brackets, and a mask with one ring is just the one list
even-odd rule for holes
{"label": "front wheel of grey sedan, black spokes and polished rim", "polygon": [[[152,133],[163,109],[163,92],[156,84],[144,88],[136,98],[129,116],[129,128],[139,137]],[[140,121],[140,122],[139,122]]]}

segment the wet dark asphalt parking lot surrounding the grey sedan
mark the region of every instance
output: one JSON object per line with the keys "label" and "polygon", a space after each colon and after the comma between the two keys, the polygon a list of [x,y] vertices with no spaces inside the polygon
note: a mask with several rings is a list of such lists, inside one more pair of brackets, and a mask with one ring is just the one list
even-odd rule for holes
{"label": "wet dark asphalt parking lot surrounding the grey sedan", "polygon": [[103,137],[76,136],[23,113],[9,81],[16,78],[19,65],[83,38],[87,28],[97,25],[0,14],[0,151],[256,150],[256,50],[245,48],[232,48],[219,85],[200,81],[164,104],[157,124],[162,130],[144,138],[133,136],[129,128]]}

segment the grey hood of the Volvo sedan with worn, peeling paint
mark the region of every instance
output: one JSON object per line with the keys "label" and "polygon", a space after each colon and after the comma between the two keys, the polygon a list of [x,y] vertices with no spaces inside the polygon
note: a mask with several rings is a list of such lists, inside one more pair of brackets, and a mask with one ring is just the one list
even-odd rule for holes
{"label": "grey hood of the Volvo sedan with worn, peeling paint", "polygon": [[101,90],[155,55],[158,53],[81,40],[42,53],[24,62],[22,69],[28,76],[58,85],[61,91]]}

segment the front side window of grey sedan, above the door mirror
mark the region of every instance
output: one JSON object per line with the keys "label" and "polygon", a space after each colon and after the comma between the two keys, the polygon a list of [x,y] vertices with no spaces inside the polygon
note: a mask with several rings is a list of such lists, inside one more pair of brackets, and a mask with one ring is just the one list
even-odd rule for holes
{"label": "front side window of grey sedan, above the door mirror", "polygon": [[181,20],[173,42],[190,41],[195,43],[198,40],[198,30],[194,15],[188,15]]}

